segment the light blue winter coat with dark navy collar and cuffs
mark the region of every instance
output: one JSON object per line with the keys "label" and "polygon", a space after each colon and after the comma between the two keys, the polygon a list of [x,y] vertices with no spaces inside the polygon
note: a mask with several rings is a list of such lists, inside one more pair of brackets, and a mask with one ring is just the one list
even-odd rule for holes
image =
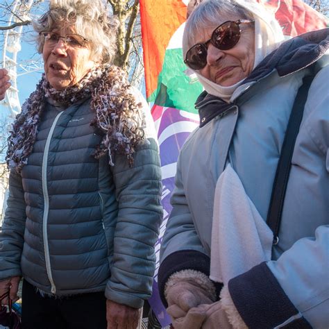
{"label": "light blue winter coat with dark navy collar and cuffs", "polygon": [[[180,151],[162,239],[158,283],[164,303],[173,273],[193,269],[209,276],[214,192],[227,163],[266,221],[289,115],[303,78],[314,74],[272,259],[235,276],[222,292],[233,301],[226,311],[248,328],[328,328],[328,49],[328,28],[294,37],[264,58],[230,103],[205,92],[199,96],[201,125]],[[245,244],[251,239],[243,238]],[[231,249],[235,255],[235,245]]]}

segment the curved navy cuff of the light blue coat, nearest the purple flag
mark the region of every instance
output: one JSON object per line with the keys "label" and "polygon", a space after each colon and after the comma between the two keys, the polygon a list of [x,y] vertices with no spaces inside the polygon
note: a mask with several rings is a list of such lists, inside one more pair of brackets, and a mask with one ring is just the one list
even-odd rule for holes
{"label": "curved navy cuff of the light blue coat, nearest the purple flag", "polygon": [[[209,276],[210,258],[199,251],[183,250],[171,253],[167,256],[167,258],[165,258],[165,260],[162,261],[158,271],[158,287],[161,301],[165,307],[168,307],[165,298],[165,284],[171,274],[184,269],[194,269],[195,271],[200,271],[205,273],[206,276]],[[219,296],[219,292],[221,291],[221,287],[223,287],[223,285],[217,282],[213,283],[216,287],[216,294]]]}

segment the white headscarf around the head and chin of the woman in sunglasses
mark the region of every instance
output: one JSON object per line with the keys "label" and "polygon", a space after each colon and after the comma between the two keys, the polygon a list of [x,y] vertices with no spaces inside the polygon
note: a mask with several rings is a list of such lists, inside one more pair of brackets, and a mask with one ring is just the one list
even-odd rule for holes
{"label": "white headscarf around the head and chin of the woman in sunglasses", "polygon": [[[282,29],[278,24],[274,14],[264,8],[261,3],[255,0],[234,0],[242,8],[248,10],[253,14],[255,19],[255,62],[253,68],[255,68],[269,53],[277,49],[280,43],[284,40]],[[241,80],[235,85],[229,87],[223,87],[217,85],[208,80],[204,76],[194,71],[198,76],[199,81],[205,88],[205,90],[214,96],[218,96],[224,101],[229,102],[230,96],[232,96],[235,89],[244,81]]]}

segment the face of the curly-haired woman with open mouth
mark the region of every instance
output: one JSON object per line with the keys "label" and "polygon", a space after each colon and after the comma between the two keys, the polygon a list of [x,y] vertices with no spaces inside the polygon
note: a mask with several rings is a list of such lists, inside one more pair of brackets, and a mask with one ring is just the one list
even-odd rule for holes
{"label": "face of the curly-haired woman with open mouth", "polygon": [[[76,33],[71,26],[54,29],[52,32],[62,36]],[[56,90],[64,90],[75,85],[95,65],[92,52],[87,45],[78,47],[65,44],[63,38],[60,38],[55,45],[45,42],[42,57],[47,81]]]}

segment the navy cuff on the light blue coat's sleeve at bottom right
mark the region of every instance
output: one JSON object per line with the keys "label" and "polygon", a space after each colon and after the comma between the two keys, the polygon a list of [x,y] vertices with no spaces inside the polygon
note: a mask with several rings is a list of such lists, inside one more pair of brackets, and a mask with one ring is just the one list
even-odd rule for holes
{"label": "navy cuff on the light blue coat's sleeve at bottom right", "polygon": [[249,329],[312,328],[279,285],[266,262],[228,282],[233,303]]}

